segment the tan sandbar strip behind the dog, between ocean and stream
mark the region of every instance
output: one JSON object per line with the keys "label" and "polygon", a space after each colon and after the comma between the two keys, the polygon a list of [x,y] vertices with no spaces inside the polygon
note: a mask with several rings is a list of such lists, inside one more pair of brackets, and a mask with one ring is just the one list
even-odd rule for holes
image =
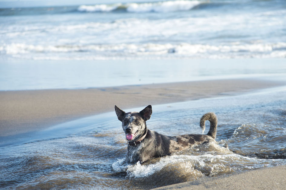
{"label": "tan sandbar strip behind the dog, between ocean and stream", "polygon": [[235,95],[284,83],[255,79],[191,81],[89,89],[0,91],[0,137],[38,131],[114,110]]}

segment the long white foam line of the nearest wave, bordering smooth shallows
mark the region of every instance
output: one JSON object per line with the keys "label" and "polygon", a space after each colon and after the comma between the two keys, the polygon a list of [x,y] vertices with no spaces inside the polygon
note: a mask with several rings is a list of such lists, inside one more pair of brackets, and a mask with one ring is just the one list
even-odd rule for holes
{"label": "long white foam line of the nearest wave, bordering smooth shallows", "polygon": [[[92,45],[31,45],[12,43],[0,46],[0,54],[29,59],[43,59],[51,53],[57,59],[66,59],[67,53],[73,52],[73,59],[125,59],[125,58],[285,58],[286,43],[253,43],[228,45],[208,44],[92,44]],[[71,55],[68,55],[69,57]],[[40,57],[40,58],[39,58]],[[44,59],[50,59],[45,57]]]}

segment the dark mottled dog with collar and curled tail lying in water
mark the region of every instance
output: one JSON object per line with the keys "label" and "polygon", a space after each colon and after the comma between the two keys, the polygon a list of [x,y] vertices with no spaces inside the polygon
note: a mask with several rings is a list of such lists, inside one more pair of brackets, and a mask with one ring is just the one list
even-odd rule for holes
{"label": "dark mottled dog with collar and curled tail lying in water", "polygon": [[143,163],[151,158],[163,157],[188,147],[215,142],[217,117],[215,113],[208,112],[200,120],[202,131],[205,130],[205,121],[210,121],[210,129],[207,135],[178,135],[166,136],[147,129],[146,121],[152,114],[152,106],[149,105],[140,112],[128,112],[115,105],[115,112],[122,122],[123,131],[126,134],[128,151],[125,162]]}

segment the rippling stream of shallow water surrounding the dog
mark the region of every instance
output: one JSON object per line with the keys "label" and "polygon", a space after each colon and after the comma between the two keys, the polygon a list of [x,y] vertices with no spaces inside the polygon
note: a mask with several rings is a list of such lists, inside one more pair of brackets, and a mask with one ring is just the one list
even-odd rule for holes
{"label": "rippling stream of shallow water surrounding the dog", "polygon": [[[123,162],[127,141],[115,112],[56,125],[31,138],[1,141],[0,187],[150,189],[285,165],[285,97],[283,86],[153,106],[147,126],[165,135],[202,134],[200,117],[215,112],[217,144],[191,147],[143,164]],[[225,143],[229,148],[223,147]]]}

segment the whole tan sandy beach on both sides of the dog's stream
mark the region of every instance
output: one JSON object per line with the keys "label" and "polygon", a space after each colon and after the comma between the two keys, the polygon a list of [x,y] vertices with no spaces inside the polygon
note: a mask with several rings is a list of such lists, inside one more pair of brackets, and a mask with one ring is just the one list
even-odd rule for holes
{"label": "whole tan sandy beach on both sides of the dog's stream", "polygon": [[[279,86],[279,82],[235,79],[78,90],[0,92],[0,136],[21,135],[73,119],[122,109],[229,96]],[[12,137],[11,136],[11,137]],[[251,170],[158,189],[285,189],[286,167]]]}

